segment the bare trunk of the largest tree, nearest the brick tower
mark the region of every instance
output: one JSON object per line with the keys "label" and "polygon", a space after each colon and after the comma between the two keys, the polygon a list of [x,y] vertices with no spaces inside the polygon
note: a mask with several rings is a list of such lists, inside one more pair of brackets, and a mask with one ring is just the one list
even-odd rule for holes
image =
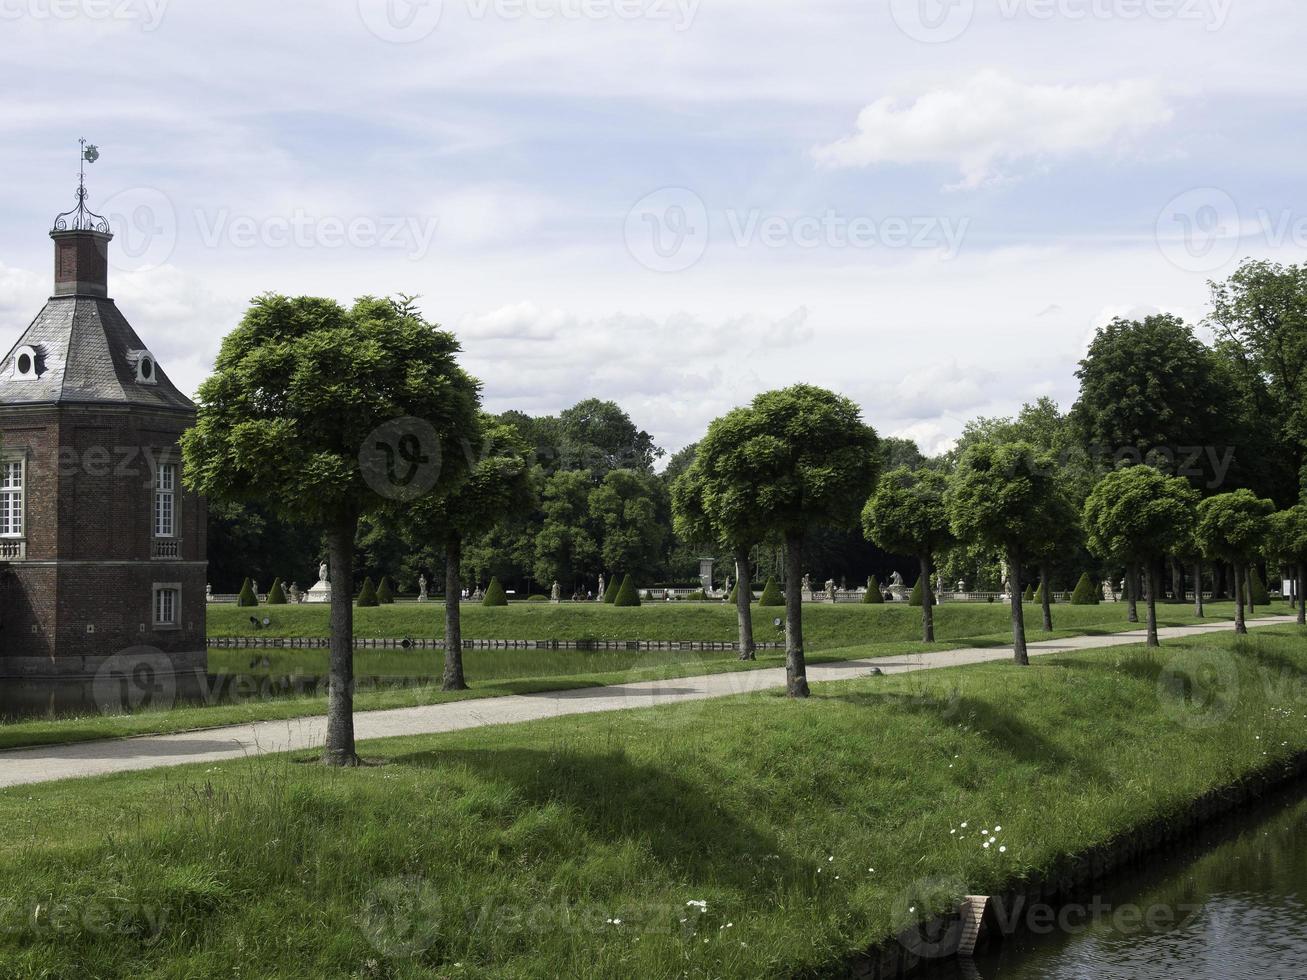
{"label": "bare trunk of the largest tree, nearest the brick tower", "polygon": [[354,534],[358,517],[350,515],[327,529],[331,563],[331,665],[327,685],[328,766],[357,766],[354,751]]}

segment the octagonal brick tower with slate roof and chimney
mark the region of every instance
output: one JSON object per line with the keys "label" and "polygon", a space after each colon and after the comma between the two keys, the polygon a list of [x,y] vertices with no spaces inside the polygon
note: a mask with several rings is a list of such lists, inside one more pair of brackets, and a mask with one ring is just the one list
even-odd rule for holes
{"label": "octagonal brick tower with slate roof and chimney", "polygon": [[[0,708],[103,704],[203,676],[195,405],[108,298],[103,218],[63,214],[54,295],[0,361]],[[140,700],[140,691],[125,691]]]}

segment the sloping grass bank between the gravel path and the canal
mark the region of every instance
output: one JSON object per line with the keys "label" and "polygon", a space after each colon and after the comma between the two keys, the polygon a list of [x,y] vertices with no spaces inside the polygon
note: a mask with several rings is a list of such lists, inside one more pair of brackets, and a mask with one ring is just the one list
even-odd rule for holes
{"label": "sloping grass bank between the gravel path and the canal", "polygon": [[839,975],[1307,750],[1304,679],[1274,627],[0,791],[0,976]]}

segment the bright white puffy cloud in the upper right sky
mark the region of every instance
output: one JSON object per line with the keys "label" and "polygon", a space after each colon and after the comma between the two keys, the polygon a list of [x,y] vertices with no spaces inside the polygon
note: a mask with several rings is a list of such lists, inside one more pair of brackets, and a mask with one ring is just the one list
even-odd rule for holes
{"label": "bright white puffy cloud in the upper right sky", "polygon": [[1018,163],[1127,145],[1174,115],[1153,81],[1039,85],[985,71],[911,105],[877,99],[855,133],[813,157],[825,167],[950,163],[972,188],[1010,179]]}

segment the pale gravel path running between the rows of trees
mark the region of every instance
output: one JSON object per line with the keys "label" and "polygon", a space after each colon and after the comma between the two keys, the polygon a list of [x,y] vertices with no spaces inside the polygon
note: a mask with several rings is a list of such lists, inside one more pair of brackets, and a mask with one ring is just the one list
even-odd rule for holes
{"label": "pale gravel path running between the rows of trees", "polygon": [[[1249,626],[1272,626],[1294,622],[1293,617],[1270,617],[1251,621]],[[1178,626],[1161,630],[1162,639],[1227,632],[1233,623],[1210,626]],[[1102,649],[1142,643],[1142,630],[1107,636],[1073,636],[1030,644],[1030,656]],[[838,664],[810,664],[812,683],[843,681],[865,676],[873,666],[886,674],[933,670],[945,666],[985,664],[1012,657],[1010,647],[948,649],[903,657],[850,660]],[[680,677],[664,681],[571,691],[545,691],[507,698],[430,704],[418,708],[367,711],[354,716],[354,734],[366,738],[454,732],[484,725],[507,725],[516,721],[587,715],[597,711],[622,711],[651,704],[727,698],[772,687],[783,687],[783,668],[737,670],[703,677]],[[259,721],[170,736],[141,736],[74,745],[54,745],[0,753],[0,787],[47,783],[56,779],[98,776],[110,772],[149,770],[184,763],[216,763],[247,755],[295,751],[322,746],[327,733],[325,717],[290,721]]]}

